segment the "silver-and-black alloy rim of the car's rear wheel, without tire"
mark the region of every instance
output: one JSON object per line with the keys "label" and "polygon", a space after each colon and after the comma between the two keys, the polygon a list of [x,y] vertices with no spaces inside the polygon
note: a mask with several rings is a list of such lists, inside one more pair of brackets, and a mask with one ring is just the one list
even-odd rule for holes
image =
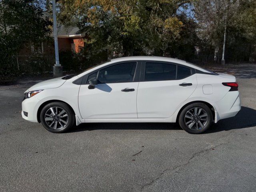
{"label": "silver-and-black alloy rim of the car's rear wheel, without tire", "polygon": [[191,108],[184,117],[185,124],[192,130],[204,128],[208,122],[208,114],[200,107]]}

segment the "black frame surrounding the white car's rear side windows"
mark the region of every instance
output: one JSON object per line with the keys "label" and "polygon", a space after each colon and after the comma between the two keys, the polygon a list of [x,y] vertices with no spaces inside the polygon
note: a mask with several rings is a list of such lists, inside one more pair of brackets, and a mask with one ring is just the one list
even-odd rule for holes
{"label": "black frame surrounding the white car's rear side windows", "polygon": [[[182,67],[190,69],[190,71],[191,71],[190,76],[192,76],[193,74],[196,73],[194,68],[191,68],[191,67],[188,67],[186,65],[179,64],[179,63],[173,63],[173,62],[167,62],[167,61],[156,61],[156,60],[143,60],[142,64],[141,64],[140,82],[149,82],[149,81],[145,81],[146,62],[166,63],[166,64],[176,65],[176,79],[174,79],[174,80],[184,79],[184,78],[178,79],[178,66],[182,66]],[[190,77],[190,76],[187,76],[187,77]],[[187,77],[185,77],[185,78],[187,78]],[[174,80],[168,80],[168,81],[174,81]]]}

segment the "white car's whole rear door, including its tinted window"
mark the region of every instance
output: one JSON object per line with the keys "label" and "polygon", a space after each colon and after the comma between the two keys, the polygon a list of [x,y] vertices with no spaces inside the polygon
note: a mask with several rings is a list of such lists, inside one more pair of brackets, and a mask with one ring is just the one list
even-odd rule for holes
{"label": "white car's whole rear door, including its tinted window", "polygon": [[168,118],[194,92],[196,74],[170,62],[142,62],[137,93],[138,118]]}

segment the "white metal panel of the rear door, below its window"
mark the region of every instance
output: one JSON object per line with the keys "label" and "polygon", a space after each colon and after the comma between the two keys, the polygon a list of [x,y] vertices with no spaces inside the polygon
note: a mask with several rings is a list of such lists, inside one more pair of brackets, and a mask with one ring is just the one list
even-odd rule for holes
{"label": "white metal panel of the rear door, below its window", "polygon": [[[192,83],[192,86],[179,86],[182,83]],[[170,118],[196,86],[196,74],[181,80],[140,82],[137,93],[138,118]]]}

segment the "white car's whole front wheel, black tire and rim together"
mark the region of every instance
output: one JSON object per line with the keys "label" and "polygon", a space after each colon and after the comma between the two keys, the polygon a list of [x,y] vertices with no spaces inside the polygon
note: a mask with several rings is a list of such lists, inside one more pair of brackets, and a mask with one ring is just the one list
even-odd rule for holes
{"label": "white car's whole front wheel, black tire and rim together", "polygon": [[[55,112],[54,115],[53,112]],[[40,120],[46,130],[52,133],[63,133],[74,126],[75,114],[67,104],[52,102],[42,108]]]}

